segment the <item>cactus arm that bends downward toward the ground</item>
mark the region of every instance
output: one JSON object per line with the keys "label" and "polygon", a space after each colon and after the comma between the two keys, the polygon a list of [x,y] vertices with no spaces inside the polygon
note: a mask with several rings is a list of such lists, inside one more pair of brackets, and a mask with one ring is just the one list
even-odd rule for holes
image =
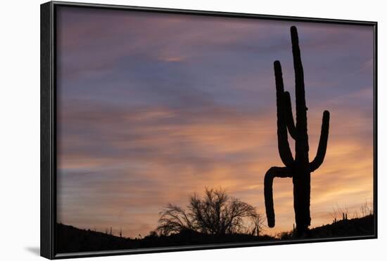
{"label": "cactus arm that bends downward toward the ground", "polygon": [[273,180],[274,178],[291,178],[291,170],[286,167],[272,167],[265,174],[265,207],[267,216],[267,225],[274,227],[274,203],[273,203]]}

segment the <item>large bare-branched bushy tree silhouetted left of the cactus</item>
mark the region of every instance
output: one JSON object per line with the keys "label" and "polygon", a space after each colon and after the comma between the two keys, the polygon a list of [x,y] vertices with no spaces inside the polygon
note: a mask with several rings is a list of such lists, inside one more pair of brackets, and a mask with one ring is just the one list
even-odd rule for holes
{"label": "large bare-branched bushy tree silhouetted left of the cactus", "polygon": [[160,212],[160,234],[192,230],[205,234],[259,234],[263,218],[255,207],[226,194],[224,189],[205,189],[203,198],[190,197],[187,210],[171,203]]}

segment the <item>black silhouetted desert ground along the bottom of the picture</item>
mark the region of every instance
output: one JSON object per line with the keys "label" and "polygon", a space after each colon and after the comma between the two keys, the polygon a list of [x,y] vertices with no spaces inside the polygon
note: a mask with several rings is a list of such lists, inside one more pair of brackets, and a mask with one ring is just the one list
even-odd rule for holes
{"label": "black silhouetted desert ground along the bottom of the picture", "polygon": [[[310,229],[310,235],[307,238],[323,239],[327,237],[366,236],[373,234],[374,215],[369,215],[352,220],[340,220],[331,225]],[[57,253],[296,239],[293,237],[292,232],[281,233],[280,239],[276,239],[272,236],[251,236],[247,234],[215,236],[193,231],[184,231],[170,236],[145,236],[144,239],[125,239],[120,236],[78,229],[63,224],[56,225],[56,235]]]}

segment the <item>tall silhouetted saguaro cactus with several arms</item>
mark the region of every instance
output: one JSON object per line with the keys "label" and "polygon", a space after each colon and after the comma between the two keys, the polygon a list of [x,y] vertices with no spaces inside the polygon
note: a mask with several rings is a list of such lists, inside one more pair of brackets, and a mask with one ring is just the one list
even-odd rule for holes
{"label": "tall silhouetted saguaro cactus with several arms", "polygon": [[[274,62],[274,75],[277,89],[277,138],[278,150],[284,167],[272,167],[265,175],[265,207],[267,225],[274,227],[273,179],[293,179],[293,206],[296,215],[296,232],[301,236],[310,226],[310,173],[317,170],[324,161],[329,134],[329,112],[324,111],[317,155],[309,161],[309,142],[307,137],[307,107],[300,47],[298,46],[297,28],[291,27],[291,44],[293,66],[296,75],[296,124],[293,120],[291,98],[284,91],[281,64]],[[288,143],[288,133],[296,141],[296,156]]]}

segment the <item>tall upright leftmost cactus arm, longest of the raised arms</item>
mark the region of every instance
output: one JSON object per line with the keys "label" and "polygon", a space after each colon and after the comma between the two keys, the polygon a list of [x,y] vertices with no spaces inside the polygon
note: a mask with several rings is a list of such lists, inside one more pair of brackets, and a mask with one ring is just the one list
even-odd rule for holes
{"label": "tall upright leftmost cactus arm, longest of the raised arms", "polygon": [[278,151],[282,162],[287,167],[291,167],[294,163],[293,155],[288,142],[288,131],[286,128],[285,110],[284,107],[284,80],[282,79],[281,64],[279,61],[274,62],[274,76],[277,89],[277,139]]}

